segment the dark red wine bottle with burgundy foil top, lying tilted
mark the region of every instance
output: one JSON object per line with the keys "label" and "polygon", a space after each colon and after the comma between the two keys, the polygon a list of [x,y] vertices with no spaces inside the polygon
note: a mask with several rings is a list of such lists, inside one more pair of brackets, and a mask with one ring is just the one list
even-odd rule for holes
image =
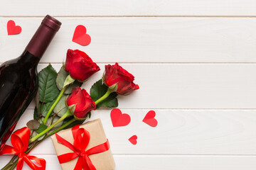
{"label": "dark red wine bottle with burgundy foil top, lying tilted", "polygon": [[60,25],[60,21],[46,16],[21,56],[0,65],[0,152],[36,96],[38,62]]}

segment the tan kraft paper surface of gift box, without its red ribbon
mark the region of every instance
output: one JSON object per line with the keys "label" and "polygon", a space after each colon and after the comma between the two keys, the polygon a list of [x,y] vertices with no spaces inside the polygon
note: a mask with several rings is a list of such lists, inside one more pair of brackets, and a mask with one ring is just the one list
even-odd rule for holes
{"label": "tan kraft paper surface of gift box, without its red ribbon", "polygon": [[[102,143],[105,143],[107,141],[107,137],[103,130],[100,119],[92,120],[83,125],[80,125],[80,128],[85,128],[85,130],[90,132],[90,142],[88,143],[85,151],[97,145],[101,145]],[[61,130],[57,134],[73,145],[74,138],[72,135],[71,128],[67,130]],[[55,147],[55,151],[58,156],[61,154],[73,152],[73,150],[69,149],[65,145],[60,144],[57,141],[57,138],[55,137],[55,135],[52,135],[51,139],[53,141],[53,145]],[[89,155],[89,158],[97,170],[114,170],[114,166],[115,166],[114,158],[112,156],[112,152],[110,149],[99,154],[91,154]],[[78,162],[78,157],[71,160],[70,162],[65,162],[63,164],[60,164],[60,166],[63,170],[72,170],[75,168],[75,165],[77,164],[77,162]]]}

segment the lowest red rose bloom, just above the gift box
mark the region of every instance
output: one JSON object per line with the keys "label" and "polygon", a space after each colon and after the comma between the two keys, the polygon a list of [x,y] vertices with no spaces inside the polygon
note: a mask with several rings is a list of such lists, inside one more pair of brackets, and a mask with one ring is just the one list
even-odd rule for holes
{"label": "lowest red rose bloom, just above the gift box", "polygon": [[76,118],[82,119],[85,118],[87,113],[96,109],[95,102],[92,101],[92,98],[85,91],[85,89],[81,89],[80,87],[74,87],[72,93],[67,98],[67,105],[70,110],[73,110],[73,106],[75,106],[75,110],[70,111],[75,115]]}

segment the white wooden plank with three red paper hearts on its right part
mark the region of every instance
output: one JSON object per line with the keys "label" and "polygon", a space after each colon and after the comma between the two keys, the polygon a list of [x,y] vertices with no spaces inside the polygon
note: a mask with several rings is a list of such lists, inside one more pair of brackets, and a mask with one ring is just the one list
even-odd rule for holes
{"label": "white wooden plank with three red paper hearts on its right part", "polygon": [[[131,117],[125,127],[113,128],[110,110],[92,111],[100,118],[113,154],[210,154],[255,155],[256,111],[156,109],[158,125],[152,128],[142,120],[149,109],[122,109]],[[16,129],[33,118],[33,110],[23,114]],[[137,145],[128,139],[137,135]],[[10,141],[8,142],[10,144]],[[55,154],[47,139],[32,154]]]}

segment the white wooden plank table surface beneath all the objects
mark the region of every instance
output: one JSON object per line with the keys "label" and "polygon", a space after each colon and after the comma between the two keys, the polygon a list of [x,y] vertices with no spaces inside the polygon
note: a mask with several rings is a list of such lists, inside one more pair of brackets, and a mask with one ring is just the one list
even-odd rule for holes
{"label": "white wooden plank table surface beneath all the objects", "polygon": [[[255,9],[255,0],[1,1],[0,62],[21,54],[43,16],[55,16],[63,26],[39,70],[48,62],[59,69],[68,48],[79,49],[102,69],[85,89],[114,62],[141,88],[119,97],[119,108],[132,118],[128,126],[113,128],[110,110],[92,113],[92,120],[102,119],[117,170],[254,170]],[[20,35],[7,36],[9,19],[23,28]],[[92,37],[86,47],[71,41],[79,24]],[[33,107],[17,128],[33,118]],[[142,123],[151,109],[156,128]],[[46,159],[46,169],[60,169],[50,139],[31,154]],[[0,157],[0,167],[9,159]]]}

